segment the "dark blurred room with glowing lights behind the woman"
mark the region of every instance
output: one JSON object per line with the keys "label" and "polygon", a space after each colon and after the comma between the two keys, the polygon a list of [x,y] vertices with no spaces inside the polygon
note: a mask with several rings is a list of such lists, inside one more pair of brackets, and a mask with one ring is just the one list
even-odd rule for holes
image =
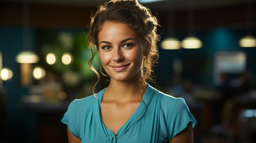
{"label": "dark blurred room with glowing lights behind the woman", "polygon": [[[151,85],[186,100],[195,143],[255,143],[256,1],[138,1],[160,24]],[[0,0],[0,143],[67,143],[68,104],[92,95],[86,34],[103,2]]]}

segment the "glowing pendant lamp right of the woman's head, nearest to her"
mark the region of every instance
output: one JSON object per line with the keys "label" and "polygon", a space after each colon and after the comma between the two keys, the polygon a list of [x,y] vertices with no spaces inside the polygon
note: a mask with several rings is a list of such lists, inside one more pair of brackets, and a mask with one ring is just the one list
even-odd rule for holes
{"label": "glowing pendant lamp right of the woman's head, nearest to her", "polygon": [[163,49],[180,49],[180,41],[177,38],[166,38],[161,42]]}

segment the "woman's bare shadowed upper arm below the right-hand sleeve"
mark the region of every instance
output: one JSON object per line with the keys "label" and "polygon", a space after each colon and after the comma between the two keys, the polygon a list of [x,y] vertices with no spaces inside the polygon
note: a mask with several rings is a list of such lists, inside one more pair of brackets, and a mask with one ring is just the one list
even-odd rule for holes
{"label": "woman's bare shadowed upper arm below the right-hand sleeve", "polygon": [[193,143],[193,129],[191,123],[178,133],[169,143]]}

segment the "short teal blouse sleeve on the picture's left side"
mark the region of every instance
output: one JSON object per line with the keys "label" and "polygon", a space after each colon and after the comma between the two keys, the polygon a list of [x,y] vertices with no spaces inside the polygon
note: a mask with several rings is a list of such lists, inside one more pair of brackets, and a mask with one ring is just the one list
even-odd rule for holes
{"label": "short teal blouse sleeve on the picture's left side", "polygon": [[70,132],[72,132],[72,134],[74,134],[74,136],[76,136],[80,139],[78,132],[76,130],[77,129],[76,128],[77,127],[76,112],[77,112],[76,100],[73,100],[70,103],[70,105],[68,106],[67,111],[65,112],[64,117],[62,118],[61,122],[65,123],[68,126]]}

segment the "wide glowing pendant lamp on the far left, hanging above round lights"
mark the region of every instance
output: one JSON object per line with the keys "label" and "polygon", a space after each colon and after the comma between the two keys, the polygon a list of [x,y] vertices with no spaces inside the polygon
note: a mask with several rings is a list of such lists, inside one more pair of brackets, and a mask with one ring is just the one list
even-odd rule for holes
{"label": "wide glowing pendant lamp on the far left, hanging above round lights", "polygon": [[38,55],[33,51],[22,51],[16,56],[16,61],[18,63],[37,63],[38,60]]}

